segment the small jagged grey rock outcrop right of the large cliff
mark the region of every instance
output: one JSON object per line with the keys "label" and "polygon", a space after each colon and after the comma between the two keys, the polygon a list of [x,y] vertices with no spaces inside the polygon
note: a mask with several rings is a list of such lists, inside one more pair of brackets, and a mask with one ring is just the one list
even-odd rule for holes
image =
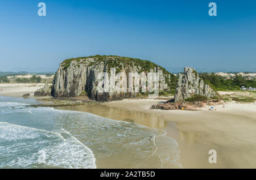
{"label": "small jagged grey rock outcrop right of the large cliff", "polygon": [[183,101],[185,98],[191,97],[192,95],[201,95],[207,98],[212,98],[218,96],[218,93],[210,84],[205,83],[204,80],[199,77],[194,68],[185,67],[184,74],[179,74],[174,99],[175,102]]}

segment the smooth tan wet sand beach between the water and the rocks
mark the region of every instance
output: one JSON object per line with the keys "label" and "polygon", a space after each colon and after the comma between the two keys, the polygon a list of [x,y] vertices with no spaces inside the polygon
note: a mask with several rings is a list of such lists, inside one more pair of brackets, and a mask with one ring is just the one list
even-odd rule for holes
{"label": "smooth tan wet sand beach between the water and the rocks", "polygon": [[[256,105],[220,105],[214,112],[207,107],[197,112],[149,109],[162,101],[122,100],[57,109],[163,129],[179,144],[183,168],[256,168]],[[208,161],[210,149],[217,151],[216,164]]]}

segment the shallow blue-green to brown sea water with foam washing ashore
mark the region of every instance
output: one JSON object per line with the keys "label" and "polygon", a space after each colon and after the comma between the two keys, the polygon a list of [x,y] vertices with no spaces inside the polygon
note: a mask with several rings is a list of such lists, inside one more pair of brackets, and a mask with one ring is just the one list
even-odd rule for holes
{"label": "shallow blue-green to brown sea water with foam washing ashore", "polygon": [[163,130],[38,103],[0,96],[0,168],[181,168]]}

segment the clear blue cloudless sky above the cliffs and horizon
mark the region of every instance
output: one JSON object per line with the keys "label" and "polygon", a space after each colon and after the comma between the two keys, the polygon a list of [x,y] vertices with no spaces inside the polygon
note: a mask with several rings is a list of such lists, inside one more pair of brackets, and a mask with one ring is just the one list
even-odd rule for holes
{"label": "clear blue cloudless sky above the cliffs and horizon", "polygon": [[171,72],[256,71],[255,0],[0,0],[0,23],[0,71],[55,72],[64,59],[95,54]]}

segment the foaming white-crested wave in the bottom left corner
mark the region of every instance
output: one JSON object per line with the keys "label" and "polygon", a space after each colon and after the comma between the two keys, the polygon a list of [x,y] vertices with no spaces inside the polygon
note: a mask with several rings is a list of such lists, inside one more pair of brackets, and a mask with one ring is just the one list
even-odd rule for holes
{"label": "foaming white-crested wave in the bottom left corner", "polygon": [[67,131],[1,122],[0,144],[0,168],[96,168],[93,152]]}

